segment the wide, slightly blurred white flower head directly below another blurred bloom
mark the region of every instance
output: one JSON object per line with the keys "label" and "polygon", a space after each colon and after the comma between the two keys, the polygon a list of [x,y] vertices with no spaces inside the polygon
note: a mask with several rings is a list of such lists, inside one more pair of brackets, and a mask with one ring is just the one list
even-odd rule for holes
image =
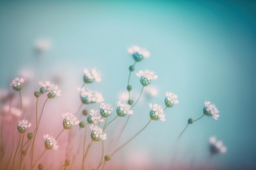
{"label": "wide, slightly blurred white flower head directly below another blurred bloom", "polygon": [[83,104],[90,104],[95,102],[99,103],[104,101],[101,93],[98,93],[96,91],[91,91],[89,90],[89,88],[87,88],[86,90],[84,89],[81,90],[80,98]]}

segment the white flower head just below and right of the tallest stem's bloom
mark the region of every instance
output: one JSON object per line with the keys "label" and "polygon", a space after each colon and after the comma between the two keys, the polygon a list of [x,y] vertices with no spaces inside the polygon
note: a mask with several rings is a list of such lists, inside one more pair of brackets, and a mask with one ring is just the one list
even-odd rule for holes
{"label": "white flower head just below and right of the tallest stem's bloom", "polygon": [[148,86],[152,79],[157,79],[157,75],[155,75],[155,73],[150,70],[140,70],[139,73],[136,73],[136,75],[140,77],[139,81],[142,86]]}

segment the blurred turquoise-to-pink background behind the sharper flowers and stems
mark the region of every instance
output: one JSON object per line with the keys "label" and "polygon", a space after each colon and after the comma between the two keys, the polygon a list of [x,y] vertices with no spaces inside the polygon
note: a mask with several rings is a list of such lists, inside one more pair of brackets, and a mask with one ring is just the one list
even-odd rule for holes
{"label": "blurred turquoise-to-pink background behind the sharper flowers and stems", "polygon": [[[106,131],[106,153],[115,150],[117,145],[126,142],[146,125],[149,103],[164,106],[166,92],[175,93],[180,103],[164,110],[165,122],[151,121],[139,136],[112,157],[105,168],[254,169],[255,9],[256,2],[250,0],[2,0],[1,99],[13,92],[19,104],[18,92],[13,91],[9,83],[17,76],[24,77],[23,105],[27,104],[27,110],[33,110],[38,81],[58,84],[62,95],[45,106],[42,118],[45,126],[41,131],[42,134],[57,135],[62,128],[61,113],[74,113],[81,104],[77,88],[83,85],[83,69],[96,67],[102,73],[102,80],[87,87],[102,93],[104,102],[114,106],[110,118],[113,119],[116,102],[119,99],[126,102],[127,99],[128,68],[134,64],[127,49],[133,45],[141,46],[150,52],[150,57],[135,65],[130,78],[131,98],[136,100],[142,88],[136,72],[152,70],[158,79],[144,88],[118,144],[114,141],[118,134],[111,132],[120,129],[127,117],[118,117],[118,123],[113,123]],[[219,119],[202,117],[189,125],[177,141],[187,120],[203,114],[205,101],[217,106]],[[40,106],[43,102],[44,99],[40,100]],[[0,106],[2,109],[4,102]],[[83,105],[88,110],[98,107],[99,104]],[[29,113],[34,113],[31,110]],[[23,118],[32,119],[33,116],[24,113],[17,119]],[[86,118],[81,116],[79,120],[86,121]],[[16,122],[13,127],[15,130]],[[11,143],[4,137],[11,133],[8,128],[1,128],[4,143]],[[72,132],[76,130],[79,128]],[[63,132],[63,141],[67,135]],[[82,147],[83,133],[80,135],[81,141],[73,141],[73,144]],[[216,136],[227,147],[226,153],[214,155],[212,159],[211,136]],[[9,150],[11,147],[6,147],[7,155],[10,155]],[[75,148],[74,153],[77,150],[79,148]],[[58,162],[65,161],[65,158],[58,159],[58,155],[66,154],[61,146],[47,154],[54,154]],[[92,161],[89,167],[95,168],[99,159]],[[73,166],[80,167],[79,160],[77,158]],[[5,168],[6,163],[2,162],[2,165]],[[54,166],[53,162],[48,162],[46,169],[47,165]]]}

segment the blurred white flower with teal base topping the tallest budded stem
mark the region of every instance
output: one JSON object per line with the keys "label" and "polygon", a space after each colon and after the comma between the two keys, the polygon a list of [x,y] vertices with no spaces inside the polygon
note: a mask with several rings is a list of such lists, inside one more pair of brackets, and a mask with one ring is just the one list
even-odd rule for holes
{"label": "blurred white flower with teal base topping the tallest budded stem", "polygon": [[144,57],[147,58],[150,55],[146,49],[141,49],[139,46],[128,48],[128,53],[132,54],[132,57],[136,62],[140,62]]}

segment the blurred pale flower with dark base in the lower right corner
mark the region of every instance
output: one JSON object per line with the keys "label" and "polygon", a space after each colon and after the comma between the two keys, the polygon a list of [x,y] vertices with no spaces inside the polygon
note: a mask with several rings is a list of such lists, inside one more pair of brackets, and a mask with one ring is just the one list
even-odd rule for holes
{"label": "blurred pale flower with dark base in the lower right corner", "polygon": [[222,141],[217,141],[215,136],[211,136],[209,139],[211,154],[225,153],[227,152],[226,146],[222,144]]}

